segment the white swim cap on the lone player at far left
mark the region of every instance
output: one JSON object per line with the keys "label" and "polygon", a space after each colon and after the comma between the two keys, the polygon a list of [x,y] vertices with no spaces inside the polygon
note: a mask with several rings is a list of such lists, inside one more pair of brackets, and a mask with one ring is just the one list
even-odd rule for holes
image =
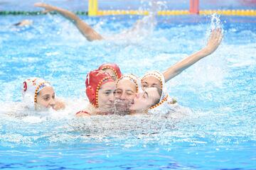
{"label": "white swim cap on the lone player at far left", "polygon": [[22,97],[23,103],[27,108],[34,109],[37,101],[39,91],[43,90],[46,86],[51,86],[49,82],[44,79],[32,77],[23,82]]}

